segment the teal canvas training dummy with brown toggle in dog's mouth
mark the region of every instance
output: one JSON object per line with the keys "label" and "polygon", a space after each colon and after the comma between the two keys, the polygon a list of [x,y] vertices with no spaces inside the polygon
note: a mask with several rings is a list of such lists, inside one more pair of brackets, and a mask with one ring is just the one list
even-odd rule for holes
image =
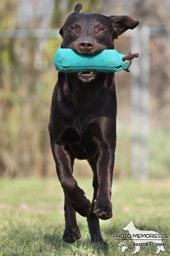
{"label": "teal canvas training dummy with brown toggle in dog's mouth", "polygon": [[54,64],[60,72],[117,72],[121,69],[129,72],[127,59],[131,60],[134,57],[139,57],[139,54],[126,56],[116,50],[103,50],[96,55],[87,55],[77,54],[72,49],[60,48],[56,51]]}

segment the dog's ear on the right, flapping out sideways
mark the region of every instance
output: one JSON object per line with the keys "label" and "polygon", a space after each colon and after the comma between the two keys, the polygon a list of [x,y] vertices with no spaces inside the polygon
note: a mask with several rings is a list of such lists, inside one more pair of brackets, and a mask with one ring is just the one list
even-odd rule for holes
{"label": "dog's ear on the right, flapping out sideways", "polygon": [[119,35],[124,33],[127,29],[134,29],[139,25],[138,20],[134,20],[130,18],[129,16],[109,16],[108,17],[113,29],[116,31],[115,38],[117,39]]}

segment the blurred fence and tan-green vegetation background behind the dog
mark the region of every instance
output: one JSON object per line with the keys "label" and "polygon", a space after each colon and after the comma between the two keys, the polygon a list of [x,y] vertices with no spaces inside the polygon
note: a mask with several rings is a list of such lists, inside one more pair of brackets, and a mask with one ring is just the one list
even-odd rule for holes
{"label": "blurred fence and tan-green vegetation background behind the dog", "polygon": [[[122,54],[138,52],[130,73],[116,73],[115,178],[170,177],[170,1],[1,0],[0,176],[56,176],[48,135],[57,80],[54,54],[69,12],[129,15],[139,26],[115,40]],[[86,161],[74,175],[88,177]]]}

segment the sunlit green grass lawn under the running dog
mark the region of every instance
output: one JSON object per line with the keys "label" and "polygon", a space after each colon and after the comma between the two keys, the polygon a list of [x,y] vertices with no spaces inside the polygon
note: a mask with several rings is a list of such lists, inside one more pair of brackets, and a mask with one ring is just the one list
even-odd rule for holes
{"label": "sunlit green grass lawn under the running dog", "polygon": [[[92,199],[92,180],[77,179],[79,186]],[[96,256],[134,255],[134,246],[123,241],[128,249],[118,249],[113,233],[126,233],[122,228],[131,220],[137,229],[169,233],[170,180],[139,182],[116,180],[112,186],[113,217],[100,221],[102,236],[108,246],[94,245],[86,218],[77,214],[81,238],[74,244],[62,240],[64,231],[64,196],[58,178],[0,179],[0,256]],[[165,242],[165,241],[164,241]],[[170,255],[166,240],[165,252]],[[156,255],[155,246],[141,246],[136,254]]]}

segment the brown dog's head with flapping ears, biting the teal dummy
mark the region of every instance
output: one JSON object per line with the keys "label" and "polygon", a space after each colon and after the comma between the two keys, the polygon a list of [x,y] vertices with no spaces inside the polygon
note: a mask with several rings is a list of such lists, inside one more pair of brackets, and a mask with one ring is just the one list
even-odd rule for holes
{"label": "brown dog's head with flapping ears, biting the teal dummy", "polygon": [[[74,12],[68,15],[60,29],[62,48],[71,48],[78,54],[97,54],[104,49],[114,49],[117,39],[127,29],[134,29],[139,22],[129,16],[104,16],[101,14],[79,13],[82,4],[76,4]],[[95,72],[78,72],[78,77],[89,82]]]}

